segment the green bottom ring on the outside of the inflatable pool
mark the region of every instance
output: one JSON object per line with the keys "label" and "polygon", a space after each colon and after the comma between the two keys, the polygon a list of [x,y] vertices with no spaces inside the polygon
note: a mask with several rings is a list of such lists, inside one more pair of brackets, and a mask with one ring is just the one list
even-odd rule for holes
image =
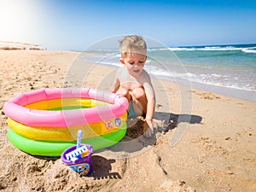
{"label": "green bottom ring on the outside of the inflatable pool", "polygon": [[[83,139],[81,143],[87,143],[92,145],[94,150],[101,148],[108,148],[115,143],[118,143],[126,133],[126,123],[119,128],[118,131],[110,132],[108,134],[90,137]],[[20,148],[20,150],[25,151],[32,155],[42,155],[42,156],[61,156],[62,152],[67,148],[76,144],[73,142],[50,142],[50,141],[35,141],[22,137],[15,133],[12,129],[8,130],[8,138],[15,147]]]}

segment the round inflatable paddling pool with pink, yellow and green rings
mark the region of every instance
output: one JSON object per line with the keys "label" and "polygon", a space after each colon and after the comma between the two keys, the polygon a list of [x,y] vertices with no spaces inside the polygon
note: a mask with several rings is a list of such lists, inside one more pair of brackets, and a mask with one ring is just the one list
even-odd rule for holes
{"label": "round inflatable paddling pool with pink, yellow and green rings", "polygon": [[90,88],[42,89],[6,102],[9,141],[28,154],[59,156],[76,143],[95,150],[121,140],[126,132],[125,97]]}

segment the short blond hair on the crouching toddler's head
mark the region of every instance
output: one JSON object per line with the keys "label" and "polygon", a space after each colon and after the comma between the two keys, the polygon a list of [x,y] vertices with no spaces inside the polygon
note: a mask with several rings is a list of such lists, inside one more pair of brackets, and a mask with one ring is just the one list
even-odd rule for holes
{"label": "short blond hair on the crouching toddler's head", "polygon": [[119,42],[119,51],[122,57],[131,52],[147,55],[147,44],[143,37],[129,35]]}

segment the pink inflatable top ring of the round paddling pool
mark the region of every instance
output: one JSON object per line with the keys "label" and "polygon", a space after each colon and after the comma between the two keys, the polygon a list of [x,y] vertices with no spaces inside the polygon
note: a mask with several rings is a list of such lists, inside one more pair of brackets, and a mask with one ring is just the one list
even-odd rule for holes
{"label": "pink inflatable top ring of the round paddling pool", "polygon": [[[108,105],[96,108],[76,108],[72,110],[40,110],[26,108],[34,102],[54,99],[84,98]],[[20,94],[6,102],[3,111],[10,119],[29,126],[69,127],[99,122],[122,116],[128,108],[125,97],[90,88],[42,89]]]}

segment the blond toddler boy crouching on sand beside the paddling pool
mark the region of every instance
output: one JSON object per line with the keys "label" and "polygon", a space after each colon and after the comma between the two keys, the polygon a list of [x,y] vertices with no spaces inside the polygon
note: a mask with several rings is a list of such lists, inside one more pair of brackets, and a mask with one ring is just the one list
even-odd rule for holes
{"label": "blond toddler boy crouching on sand beside the paddling pool", "polygon": [[118,93],[129,101],[129,117],[142,115],[145,118],[144,136],[154,133],[152,119],[154,117],[154,88],[148,73],[143,69],[147,61],[147,44],[137,35],[126,36],[119,44],[124,64],[116,73],[113,93]]}

